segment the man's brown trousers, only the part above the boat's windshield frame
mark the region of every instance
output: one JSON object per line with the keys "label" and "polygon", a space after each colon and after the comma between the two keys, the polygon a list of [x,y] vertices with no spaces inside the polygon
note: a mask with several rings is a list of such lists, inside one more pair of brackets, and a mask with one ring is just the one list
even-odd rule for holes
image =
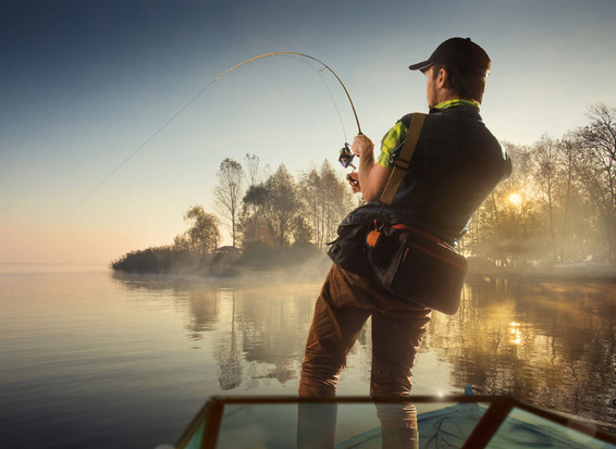
{"label": "man's brown trousers, only the part above the boat's windshield frame", "polygon": [[410,394],[411,367],[431,310],[389,294],[372,279],[333,265],[317,300],[299,382],[300,397],[334,397],[340,372],[372,316],[370,396]]}

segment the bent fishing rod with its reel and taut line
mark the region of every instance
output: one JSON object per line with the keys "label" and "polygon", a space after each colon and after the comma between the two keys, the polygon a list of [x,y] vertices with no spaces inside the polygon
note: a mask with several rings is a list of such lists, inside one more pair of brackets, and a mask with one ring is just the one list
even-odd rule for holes
{"label": "bent fishing rod with its reel and taut line", "polygon": [[[124,159],[115,169],[113,169],[111,171],[111,173],[109,173],[100,183],[98,183],[90,191],[88,191],[79,201],[77,201],[77,203],[75,205],[73,205],[61,219],[59,222],[65,220],[75,209],[77,209],[86,199],[88,199],[95,191],[97,191],[111,176],[113,176],[115,174],[115,172],[118,172],[126,162],[128,162],[131,159],[133,159],[139,151],[141,151],[141,149],[144,149],[144,147],[146,147],[151,140],[155,139],[155,137],[157,137],[164,128],[167,128],[173,121],[175,121],[175,119],[177,119],[177,116],[180,114],[182,114],[182,112],[184,112],[190,104],[193,104],[201,95],[204,95],[206,92],[206,90],[208,90],[212,84],[214,84],[219,78],[223,77],[224,75],[226,75],[227,73],[234,71],[235,68],[238,68],[245,64],[248,64],[252,61],[257,61],[259,59],[266,58],[266,57],[275,57],[275,55],[294,55],[294,57],[300,57],[300,58],[307,58],[310,59],[312,61],[318,62],[319,64],[321,64],[323,66],[323,68],[320,68],[317,71],[317,73],[320,75],[322,73],[323,70],[328,70],[332,75],[334,75],[334,77],[337,79],[337,82],[340,83],[340,85],[342,86],[342,88],[344,89],[344,92],[346,93],[346,98],[348,99],[348,102],[350,103],[350,108],[353,110],[353,115],[355,116],[355,122],[357,123],[357,132],[358,134],[362,134],[361,133],[361,127],[359,126],[359,119],[357,117],[357,112],[355,111],[355,105],[353,104],[353,100],[350,99],[350,95],[348,93],[348,90],[346,89],[346,86],[344,85],[344,83],[342,82],[342,79],[336,75],[336,73],[324,62],[318,60],[315,57],[311,57],[309,54],[305,54],[305,53],[298,53],[298,52],[294,52],[294,51],[275,51],[275,52],[271,52],[271,53],[264,53],[255,58],[250,58],[249,60],[246,60],[237,65],[234,65],[233,67],[224,71],[223,73],[221,73],[220,75],[218,75],[215,78],[213,78],[206,87],[204,87],[195,97],[193,97],[186,104],[184,104],[174,115],[171,116],[171,119],[169,119],[162,126],[160,126],[150,137],[148,137],[139,147],[137,147],[126,159]],[[310,64],[308,64],[310,65]],[[311,65],[310,65],[311,66]],[[315,68],[315,67],[312,67]],[[324,83],[324,82],[323,82]],[[325,85],[327,88],[327,85]],[[329,91],[329,89],[328,89]],[[330,92],[330,97],[331,97],[331,92]],[[333,101],[333,97],[332,97],[332,101]],[[335,104],[334,101],[334,107],[336,108],[336,112],[337,112],[337,107]],[[338,112],[338,117],[340,117],[340,112]],[[342,124],[342,119],[341,119],[341,124]],[[343,133],[344,133],[344,125],[343,125]],[[346,135],[345,135],[345,139],[346,139]],[[350,151],[350,148],[348,146],[347,142],[344,144],[344,147],[340,150],[340,157],[338,157],[338,161],[341,162],[342,166],[344,166],[345,169],[348,166],[352,166],[353,169],[355,169],[355,165],[353,165],[352,161],[354,159],[354,154]],[[349,176],[347,176],[347,178],[349,178]]]}

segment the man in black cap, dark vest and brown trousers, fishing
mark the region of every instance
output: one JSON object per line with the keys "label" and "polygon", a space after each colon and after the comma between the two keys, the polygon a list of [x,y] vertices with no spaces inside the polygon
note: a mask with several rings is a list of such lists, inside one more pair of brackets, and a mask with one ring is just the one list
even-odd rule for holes
{"label": "man in black cap, dark vest and brown trousers, fishing", "polygon": [[[430,58],[409,66],[427,77],[430,107],[415,149],[387,216],[411,225],[451,245],[464,236],[473,212],[494,187],[510,174],[512,163],[479,114],[491,61],[470,38],[455,37],[441,43]],[[402,117],[383,137],[374,160],[373,142],[358,135],[352,151],[359,157],[350,187],[367,202],[353,211],[344,224],[366,223],[381,210],[381,194],[404,145],[412,114]],[[362,238],[359,236],[358,238]],[[329,251],[334,264],[317,300],[306,342],[299,383],[301,398],[333,398],[341,370],[358,334],[372,317],[372,367],[370,396],[408,398],[411,367],[431,310],[387,292],[371,278],[364,248],[357,240],[338,239]],[[300,408],[298,446],[333,447],[335,414],[309,416]],[[383,447],[417,445],[412,410],[391,413],[379,409]],[[333,424],[332,424],[333,423]],[[330,426],[331,427],[331,426]],[[389,432],[389,431],[396,432]],[[303,436],[318,432],[317,445]]]}

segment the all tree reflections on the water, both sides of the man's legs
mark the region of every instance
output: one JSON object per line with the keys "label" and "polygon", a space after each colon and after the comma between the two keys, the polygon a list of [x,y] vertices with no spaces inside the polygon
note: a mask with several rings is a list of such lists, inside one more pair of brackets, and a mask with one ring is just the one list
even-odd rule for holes
{"label": "all tree reflections on the water, both sides of the man's legs", "polygon": [[[268,391],[272,384],[298,378],[319,283],[116,279],[124,288],[147,292],[150,300],[157,292],[173,292],[185,315],[187,338],[215,360],[220,390]],[[470,384],[479,394],[512,395],[592,419],[614,432],[614,287],[468,279],[460,311],[434,314],[421,352],[453,366],[452,387]],[[369,332],[368,324],[350,358],[349,371],[361,376],[359,394],[368,390]]]}

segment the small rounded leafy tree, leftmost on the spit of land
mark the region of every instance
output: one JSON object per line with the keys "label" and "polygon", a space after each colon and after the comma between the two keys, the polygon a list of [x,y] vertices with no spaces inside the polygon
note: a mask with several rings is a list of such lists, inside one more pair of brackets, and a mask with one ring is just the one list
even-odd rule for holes
{"label": "small rounded leafy tree, leftmost on the spit of land", "polygon": [[208,254],[217,249],[220,241],[219,220],[208,213],[202,205],[193,205],[184,214],[184,221],[190,227],[184,234],[175,236],[174,246],[185,251]]}

